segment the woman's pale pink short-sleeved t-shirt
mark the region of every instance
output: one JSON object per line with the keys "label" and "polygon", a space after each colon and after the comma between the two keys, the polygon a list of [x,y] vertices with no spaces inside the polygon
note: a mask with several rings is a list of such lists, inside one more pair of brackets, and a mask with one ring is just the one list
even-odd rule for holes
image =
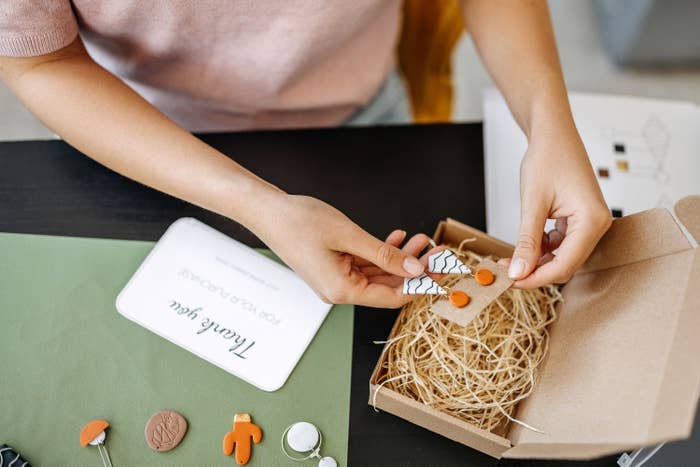
{"label": "woman's pale pink short-sleeved t-shirt", "polygon": [[90,55],[191,130],[333,125],[395,65],[400,0],[0,0],[0,55]]}

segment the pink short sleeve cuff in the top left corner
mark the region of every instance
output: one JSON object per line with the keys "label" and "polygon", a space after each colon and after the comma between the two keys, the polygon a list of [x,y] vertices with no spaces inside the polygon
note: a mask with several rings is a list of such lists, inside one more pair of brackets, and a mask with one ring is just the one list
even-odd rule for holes
{"label": "pink short sleeve cuff in the top left corner", "polygon": [[0,0],[0,56],[55,52],[78,34],[69,0]]}

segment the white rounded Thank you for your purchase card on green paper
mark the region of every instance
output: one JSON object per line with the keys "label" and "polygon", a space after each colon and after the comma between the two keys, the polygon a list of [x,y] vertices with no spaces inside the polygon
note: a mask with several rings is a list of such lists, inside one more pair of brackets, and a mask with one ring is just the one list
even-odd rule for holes
{"label": "white rounded Thank you for your purchase card on green paper", "polygon": [[168,228],[116,305],[265,391],[284,385],[331,308],[289,268],[192,218]]}

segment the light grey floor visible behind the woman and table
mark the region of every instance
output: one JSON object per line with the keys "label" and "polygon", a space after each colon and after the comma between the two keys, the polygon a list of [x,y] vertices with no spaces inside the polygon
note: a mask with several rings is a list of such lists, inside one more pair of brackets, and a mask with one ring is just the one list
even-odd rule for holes
{"label": "light grey floor visible behind the woman and table", "polygon": [[[591,0],[551,0],[550,6],[570,90],[686,99],[700,103],[700,69],[620,69],[603,49]],[[455,52],[455,65],[455,120],[480,120],[482,89],[493,84],[467,36]],[[0,140],[49,137],[51,132],[0,83]]]}

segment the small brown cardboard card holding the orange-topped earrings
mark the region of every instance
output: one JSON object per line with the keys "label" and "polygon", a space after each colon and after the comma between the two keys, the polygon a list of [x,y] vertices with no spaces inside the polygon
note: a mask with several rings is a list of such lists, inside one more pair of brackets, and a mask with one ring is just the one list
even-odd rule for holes
{"label": "small brown cardboard card holding the orange-topped earrings", "polygon": [[481,310],[513,284],[513,281],[508,278],[508,269],[490,259],[484,259],[474,268],[474,271],[480,269],[488,269],[493,273],[495,279],[491,285],[481,285],[473,276],[465,276],[450,287],[451,291],[461,290],[469,296],[470,300],[467,306],[457,308],[449,300],[440,299],[433,304],[430,310],[453,323],[466,326],[481,313]]}

